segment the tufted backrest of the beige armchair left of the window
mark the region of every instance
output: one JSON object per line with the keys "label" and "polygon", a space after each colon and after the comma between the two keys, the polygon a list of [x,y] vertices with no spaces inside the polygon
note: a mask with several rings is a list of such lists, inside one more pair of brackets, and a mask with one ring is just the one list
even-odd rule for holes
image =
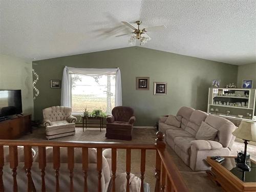
{"label": "tufted backrest of the beige armchair left of the window", "polygon": [[50,119],[50,121],[64,121],[71,115],[71,108],[68,106],[52,106],[42,110],[44,118]]}

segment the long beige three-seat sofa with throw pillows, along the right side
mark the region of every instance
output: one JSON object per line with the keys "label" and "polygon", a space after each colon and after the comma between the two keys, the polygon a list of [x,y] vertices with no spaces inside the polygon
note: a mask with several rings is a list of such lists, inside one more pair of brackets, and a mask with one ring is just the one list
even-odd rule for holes
{"label": "long beige three-seat sofa with throw pillows, along the right side", "polygon": [[159,131],[165,134],[166,143],[192,170],[208,170],[204,161],[207,156],[228,156],[235,129],[227,119],[186,106],[176,116],[159,119]]}

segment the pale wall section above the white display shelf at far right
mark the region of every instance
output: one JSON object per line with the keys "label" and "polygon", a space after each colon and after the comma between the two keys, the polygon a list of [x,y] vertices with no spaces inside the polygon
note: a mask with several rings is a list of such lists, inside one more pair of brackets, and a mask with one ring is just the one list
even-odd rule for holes
{"label": "pale wall section above the white display shelf at far right", "polygon": [[251,63],[238,67],[238,88],[242,87],[243,79],[252,79],[252,87],[256,88],[256,63]]}

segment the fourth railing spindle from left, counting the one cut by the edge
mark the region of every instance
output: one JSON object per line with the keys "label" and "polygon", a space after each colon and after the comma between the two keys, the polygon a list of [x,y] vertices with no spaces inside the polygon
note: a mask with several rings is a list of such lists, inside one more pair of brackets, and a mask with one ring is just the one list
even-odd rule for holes
{"label": "fourth railing spindle from left, counting the one cut by the edge", "polygon": [[38,147],[38,161],[39,161],[39,169],[41,169],[41,178],[42,178],[42,184],[41,184],[41,190],[42,192],[46,191],[46,182],[45,182],[45,169],[46,169],[46,147],[39,146]]}

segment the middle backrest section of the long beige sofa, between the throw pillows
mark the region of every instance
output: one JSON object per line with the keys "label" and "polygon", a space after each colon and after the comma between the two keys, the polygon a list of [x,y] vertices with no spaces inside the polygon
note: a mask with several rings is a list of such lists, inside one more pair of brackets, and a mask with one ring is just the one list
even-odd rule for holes
{"label": "middle backrest section of the long beige sofa, between the throw pillows", "polygon": [[208,114],[203,111],[193,111],[189,118],[187,126],[185,127],[185,131],[187,131],[191,135],[196,136],[202,121],[204,121],[207,116]]}

